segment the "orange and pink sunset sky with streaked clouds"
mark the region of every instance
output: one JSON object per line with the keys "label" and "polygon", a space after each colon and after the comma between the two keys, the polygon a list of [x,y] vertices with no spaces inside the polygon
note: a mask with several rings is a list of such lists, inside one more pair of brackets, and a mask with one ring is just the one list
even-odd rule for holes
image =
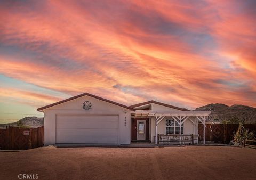
{"label": "orange and pink sunset sky with streaked clouds", "polygon": [[256,107],[256,1],[0,1],[0,122],[84,92]]}

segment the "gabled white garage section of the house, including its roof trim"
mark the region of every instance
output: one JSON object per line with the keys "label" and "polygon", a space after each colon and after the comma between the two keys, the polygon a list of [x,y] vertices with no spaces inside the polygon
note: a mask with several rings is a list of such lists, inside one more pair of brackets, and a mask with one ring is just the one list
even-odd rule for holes
{"label": "gabled white garage section of the house, including its roof trim", "polygon": [[44,145],[130,144],[126,105],[83,93],[37,109],[44,113]]}

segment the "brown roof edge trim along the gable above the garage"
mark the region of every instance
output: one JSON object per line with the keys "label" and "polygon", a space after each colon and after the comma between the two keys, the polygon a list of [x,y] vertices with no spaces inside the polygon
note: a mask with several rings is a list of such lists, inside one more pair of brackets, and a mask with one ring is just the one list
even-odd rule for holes
{"label": "brown roof edge trim along the gable above the garage", "polygon": [[46,109],[46,108],[50,108],[50,107],[53,107],[53,106],[55,106],[55,105],[58,105],[58,104],[61,104],[61,103],[65,103],[65,102],[68,102],[68,101],[71,101],[71,100],[75,100],[75,99],[77,99],[77,98],[79,98],[79,97],[86,96],[86,95],[87,95],[87,96],[90,96],[90,97],[93,97],[93,98],[95,98],[95,99],[101,100],[101,101],[105,101],[105,102],[108,102],[108,103],[111,103],[111,104],[118,105],[119,107],[123,107],[123,108],[130,109],[130,110],[135,110],[135,109],[132,108],[132,107],[127,107],[126,105],[119,104],[119,103],[117,103],[117,102],[110,101],[110,100],[104,99],[104,98],[102,98],[102,97],[95,96],[95,95],[93,95],[93,94],[83,93],[83,94],[79,94],[79,95],[74,96],[74,97],[70,97],[70,98],[68,98],[68,99],[66,99],[66,100],[62,100],[62,101],[59,101],[59,102],[55,102],[55,103],[53,103],[53,104],[45,105],[44,107],[38,108],[37,111],[42,111],[42,110],[44,110],[44,109]]}

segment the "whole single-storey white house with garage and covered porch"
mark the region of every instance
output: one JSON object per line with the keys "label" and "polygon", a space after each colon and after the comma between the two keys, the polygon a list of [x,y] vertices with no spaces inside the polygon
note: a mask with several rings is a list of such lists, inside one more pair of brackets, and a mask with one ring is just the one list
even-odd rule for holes
{"label": "whole single-storey white house with garage and covered porch", "polygon": [[44,145],[130,144],[155,142],[157,134],[198,134],[198,122],[205,125],[210,114],[156,101],[126,106],[89,93],[37,110],[44,112]]}

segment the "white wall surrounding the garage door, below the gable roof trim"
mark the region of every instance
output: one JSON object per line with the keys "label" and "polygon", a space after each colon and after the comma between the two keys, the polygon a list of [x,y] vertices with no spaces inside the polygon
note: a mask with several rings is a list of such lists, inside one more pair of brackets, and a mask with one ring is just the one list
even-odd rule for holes
{"label": "white wall surrounding the garage door, below the gable roof trim", "polygon": [[[90,101],[92,109],[84,110],[83,103]],[[126,113],[124,112],[126,111]],[[118,115],[119,130],[118,143],[131,143],[131,111],[129,109],[119,107],[118,105],[95,99],[91,96],[82,96],[75,100],[71,100],[62,104],[45,109],[44,112],[44,144],[55,144],[55,120],[57,115]],[[124,120],[126,117],[126,126]],[[99,132],[100,133],[100,132]]]}

